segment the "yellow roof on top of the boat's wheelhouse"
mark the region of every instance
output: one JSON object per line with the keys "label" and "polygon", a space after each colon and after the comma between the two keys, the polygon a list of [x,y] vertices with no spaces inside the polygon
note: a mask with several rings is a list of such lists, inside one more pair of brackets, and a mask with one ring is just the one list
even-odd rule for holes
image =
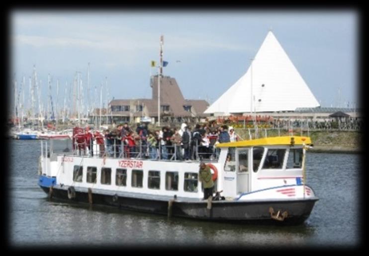
{"label": "yellow roof on top of the boat's wheelhouse", "polygon": [[311,144],[307,136],[278,136],[259,139],[242,140],[236,142],[219,143],[216,147],[250,147],[262,145],[305,145]]}

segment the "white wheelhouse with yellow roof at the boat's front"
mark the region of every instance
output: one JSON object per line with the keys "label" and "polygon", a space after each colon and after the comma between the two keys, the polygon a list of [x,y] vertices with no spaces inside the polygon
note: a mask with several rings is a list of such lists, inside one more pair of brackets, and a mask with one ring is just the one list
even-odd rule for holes
{"label": "white wheelhouse with yellow roof at the boat's front", "polygon": [[[219,144],[223,194],[240,195],[272,187],[301,185],[304,145],[309,137],[282,136]],[[225,159],[225,160],[224,160]]]}

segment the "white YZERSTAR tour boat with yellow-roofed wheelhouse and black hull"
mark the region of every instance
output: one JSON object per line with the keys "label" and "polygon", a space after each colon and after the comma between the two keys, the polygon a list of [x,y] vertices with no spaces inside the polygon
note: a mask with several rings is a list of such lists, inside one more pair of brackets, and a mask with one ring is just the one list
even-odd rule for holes
{"label": "white YZERSTAR tour boat with yellow-roofed wheelhouse and black hull", "polygon": [[[299,224],[318,198],[305,183],[309,137],[279,136],[216,145],[202,159],[211,168],[214,196],[203,200],[199,160],[56,153],[41,141],[39,186],[50,198],[213,221]],[[105,142],[106,148],[106,142]],[[93,154],[92,154],[93,153]],[[132,156],[132,155],[131,155]],[[204,157],[205,158],[205,157]]]}

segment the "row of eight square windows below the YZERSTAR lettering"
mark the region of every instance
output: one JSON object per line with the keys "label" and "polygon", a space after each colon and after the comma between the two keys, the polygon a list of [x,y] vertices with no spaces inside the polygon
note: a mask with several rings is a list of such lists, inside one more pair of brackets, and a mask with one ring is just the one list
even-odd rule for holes
{"label": "row of eight square windows below the YZERSTAR lettering", "polygon": [[[73,181],[82,182],[83,166],[75,165],[73,169]],[[88,166],[86,182],[96,183],[97,168]],[[149,189],[160,190],[160,171],[149,171],[147,187]],[[178,172],[165,173],[165,189],[169,191],[178,191]],[[111,168],[101,168],[100,183],[103,185],[111,184]],[[116,169],[116,186],[127,186],[127,169]],[[197,192],[198,177],[197,173],[184,173],[184,191]],[[143,170],[132,170],[131,186],[133,188],[143,187]]]}

